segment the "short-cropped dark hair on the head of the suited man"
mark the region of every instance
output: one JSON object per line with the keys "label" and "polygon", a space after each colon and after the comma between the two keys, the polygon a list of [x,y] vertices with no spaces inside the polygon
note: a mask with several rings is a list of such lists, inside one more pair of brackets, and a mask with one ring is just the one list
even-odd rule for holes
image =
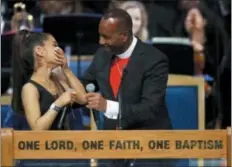
{"label": "short-cropped dark hair on the head of the suited man", "polygon": [[132,32],[132,19],[130,17],[130,15],[123,9],[111,9],[108,10],[102,19],[104,20],[108,20],[108,19],[114,19],[117,20],[118,24],[117,24],[117,30],[120,32],[127,32],[129,36],[133,35]]}

